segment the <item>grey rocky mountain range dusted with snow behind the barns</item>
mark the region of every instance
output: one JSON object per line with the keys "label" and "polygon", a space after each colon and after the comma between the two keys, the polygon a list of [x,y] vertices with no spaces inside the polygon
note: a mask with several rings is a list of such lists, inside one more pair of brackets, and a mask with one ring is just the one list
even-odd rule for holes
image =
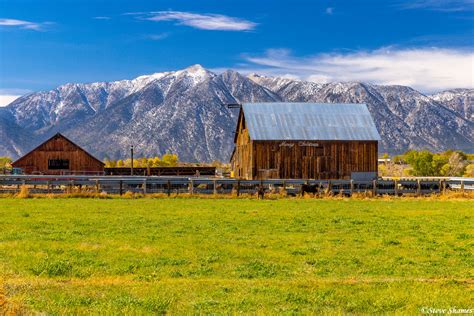
{"label": "grey rocky mountain range dusted with snow behind the barns", "polygon": [[473,90],[426,96],[404,86],[318,84],[200,65],[132,80],[65,84],[0,108],[0,155],[14,158],[62,132],[100,158],[177,153],[184,161],[227,161],[237,102],[366,103],[382,136],[381,152],[409,148],[472,151]]}

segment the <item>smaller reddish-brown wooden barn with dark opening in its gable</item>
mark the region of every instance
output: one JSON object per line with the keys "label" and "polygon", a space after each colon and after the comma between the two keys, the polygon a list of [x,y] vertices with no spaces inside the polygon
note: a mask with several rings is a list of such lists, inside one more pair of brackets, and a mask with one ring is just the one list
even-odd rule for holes
{"label": "smaller reddish-brown wooden barn with dark opening in its gable", "polygon": [[56,134],[17,161],[25,174],[102,174],[104,163],[61,134]]}

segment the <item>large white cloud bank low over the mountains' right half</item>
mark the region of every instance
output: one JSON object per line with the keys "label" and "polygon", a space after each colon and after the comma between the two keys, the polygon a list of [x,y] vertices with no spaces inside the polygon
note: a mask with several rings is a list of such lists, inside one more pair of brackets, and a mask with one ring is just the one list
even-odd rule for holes
{"label": "large white cloud bank low over the mountains' right half", "polygon": [[240,71],[292,74],[309,81],[406,85],[423,92],[474,88],[474,52],[460,49],[382,48],[305,57],[295,57],[285,49],[271,49],[261,56],[244,58],[249,64]]}

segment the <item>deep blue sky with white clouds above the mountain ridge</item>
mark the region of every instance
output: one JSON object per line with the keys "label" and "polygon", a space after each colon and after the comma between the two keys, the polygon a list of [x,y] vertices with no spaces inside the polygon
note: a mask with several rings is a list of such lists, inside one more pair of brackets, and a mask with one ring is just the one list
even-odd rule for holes
{"label": "deep blue sky with white clouds above the mountain ridge", "polygon": [[432,92],[473,87],[473,41],[474,0],[0,0],[0,95],[192,64]]}

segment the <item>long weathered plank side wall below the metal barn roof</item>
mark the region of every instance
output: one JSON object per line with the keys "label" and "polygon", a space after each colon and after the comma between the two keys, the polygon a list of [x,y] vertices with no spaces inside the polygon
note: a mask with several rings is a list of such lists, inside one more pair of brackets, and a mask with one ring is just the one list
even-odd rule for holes
{"label": "long weathered plank side wall below the metal barn roof", "polygon": [[[349,179],[377,172],[377,141],[253,141],[246,179]],[[248,155],[248,149],[242,155]]]}

